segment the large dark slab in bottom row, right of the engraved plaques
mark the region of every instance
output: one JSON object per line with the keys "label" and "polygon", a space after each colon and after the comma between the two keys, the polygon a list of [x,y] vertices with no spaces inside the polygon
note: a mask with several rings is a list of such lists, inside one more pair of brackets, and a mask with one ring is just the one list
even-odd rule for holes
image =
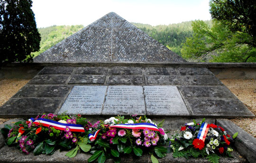
{"label": "large dark slab in bottom row, right of the engraved plaques", "polygon": [[239,100],[186,99],[193,116],[254,117]]}

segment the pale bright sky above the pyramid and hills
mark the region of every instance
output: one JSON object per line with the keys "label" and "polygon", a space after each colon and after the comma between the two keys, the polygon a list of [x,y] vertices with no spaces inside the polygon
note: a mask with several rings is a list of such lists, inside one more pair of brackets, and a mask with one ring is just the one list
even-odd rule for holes
{"label": "pale bright sky above the pyramid and hills", "polygon": [[128,22],[169,25],[210,20],[209,0],[32,0],[37,27],[87,26],[109,12]]}

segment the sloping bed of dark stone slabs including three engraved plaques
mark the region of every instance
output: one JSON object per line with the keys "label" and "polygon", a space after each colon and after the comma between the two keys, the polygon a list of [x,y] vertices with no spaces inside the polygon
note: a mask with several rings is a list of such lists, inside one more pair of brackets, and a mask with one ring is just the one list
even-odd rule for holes
{"label": "sloping bed of dark stone slabs including three engraved plaques", "polygon": [[[90,86],[98,88],[105,86],[103,92],[96,91],[98,94],[103,94],[102,102],[96,103],[100,106],[96,107],[97,109],[93,107],[93,109],[86,110],[86,107],[67,109],[70,106],[68,105],[66,109],[61,109],[74,86],[89,86],[89,88]],[[123,96],[123,100],[109,99],[110,90],[113,87],[116,89],[113,91],[117,92],[112,92],[112,95],[117,94],[117,97],[120,96],[120,98]],[[122,94],[122,91],[118,92],[118,89],[122,87],[129,89],[128,94]],[[147,93],[146,89],[156,89],[157,87],[166,87],[166,93],[157,93],[157,91],[152,91],[151,94]],[[88,92],[78,92],[78,94],[88,94]],[[162,102],[157,101],[160,94],[166,96],[165,99],[162,99],[165,106],[160,106]],[[92,94],[90,97],[93,96],[97,96],[97,94]],[[136,96],[138,100],[132,96]],[[92,100],[90,97],[88,99]],[[152,99],[155,100],[153,102],[156,103],[156,106],[152,105],[152,101],[150,102]],[[79,101],[78,98],[75,100],[78,100],[75,101],[78,103],[84,102],[81,101],[82,99]],[[180,102],[178,103],[178,101]],[[170,102],[173,105],[168,105]],[[84,103],[93,103],[93,100]],[[111,105],[125,103],[130,105],[125,107]],[[139,109],[136,109],[137,106]],[[155,109],[156,107],[164,109]],[[0,109],[1,117],[35,116],[45,112],[61,113],[64,111],[70,114],[82,113],[83,115],[137,113],[183,117],[254,116],[210,70],[185,67],[45,67]]]}

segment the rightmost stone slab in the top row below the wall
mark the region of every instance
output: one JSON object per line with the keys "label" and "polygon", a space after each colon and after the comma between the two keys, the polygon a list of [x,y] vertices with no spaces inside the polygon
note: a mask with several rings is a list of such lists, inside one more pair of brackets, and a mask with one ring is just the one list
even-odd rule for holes
{"label": "rightmost stone slab in the top row below the wall", "polygon": [[212,75],[209,69],[206,68],[177,68],[181,75]]}

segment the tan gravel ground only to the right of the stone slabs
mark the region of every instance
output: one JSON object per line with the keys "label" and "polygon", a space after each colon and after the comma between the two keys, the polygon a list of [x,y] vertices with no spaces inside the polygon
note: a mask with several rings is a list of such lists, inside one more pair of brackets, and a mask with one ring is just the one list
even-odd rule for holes
{"label": "tan gravel ground only to the right of the stone slabs", "polygon": [[[221,82],[256,115],[256,80],[222,79]],[[247,133],[256,137],[256,118],[236,118],[232,121]]]}

